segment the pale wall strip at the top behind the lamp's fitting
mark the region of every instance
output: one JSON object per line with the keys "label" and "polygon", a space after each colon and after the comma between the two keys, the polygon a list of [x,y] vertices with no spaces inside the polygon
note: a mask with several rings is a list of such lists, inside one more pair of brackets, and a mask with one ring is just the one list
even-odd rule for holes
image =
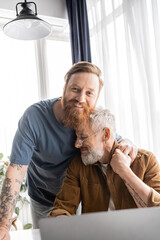
{"label": "pale wall strip at the top behind the lamp's fitting", "polygon": [[[0,8],[15,11],[16,4],[23,0],[0,0]],[[27,2],[32,2],[28,0]],[[67,18],[66,0],[33,0],[39,15]]]}

